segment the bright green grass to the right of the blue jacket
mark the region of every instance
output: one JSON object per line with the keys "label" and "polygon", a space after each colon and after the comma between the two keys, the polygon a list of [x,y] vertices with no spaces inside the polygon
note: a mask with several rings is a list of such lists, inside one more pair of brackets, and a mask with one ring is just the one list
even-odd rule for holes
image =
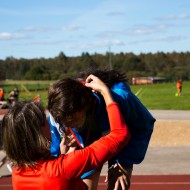
{"label": "bright green grass to the right of the blue jacket", "polygon": [[[140,90],[141,89],[141,90]],[[184,82],[181,96],[176,96],[175,83],[131,86],[148,109],[190,110],[190,82]]]}

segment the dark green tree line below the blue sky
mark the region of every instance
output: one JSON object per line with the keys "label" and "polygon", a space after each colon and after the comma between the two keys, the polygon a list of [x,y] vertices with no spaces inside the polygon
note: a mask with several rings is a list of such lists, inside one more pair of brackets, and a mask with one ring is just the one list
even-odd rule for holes
{"label": "dark green tree line below the blue sky", "polygon": [[110,53],[68,57],[63,52],[54,58],[0,60],[0,80],[57,80],[86,69],[116,69],[132,77],[165,77],[168,81],[190,80],[190,52]]}

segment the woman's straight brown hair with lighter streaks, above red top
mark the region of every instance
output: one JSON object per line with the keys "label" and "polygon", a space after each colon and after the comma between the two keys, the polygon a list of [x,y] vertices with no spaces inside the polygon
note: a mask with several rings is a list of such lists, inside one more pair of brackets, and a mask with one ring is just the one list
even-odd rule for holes
{"label": "woman's straight brown hair with lighter streaks, above red top", "polygon": [[50,155],[47,139],[42,133],[46,115],[37,102],[18,102],[2,120],[3,149],[13,164],[34,167]]}

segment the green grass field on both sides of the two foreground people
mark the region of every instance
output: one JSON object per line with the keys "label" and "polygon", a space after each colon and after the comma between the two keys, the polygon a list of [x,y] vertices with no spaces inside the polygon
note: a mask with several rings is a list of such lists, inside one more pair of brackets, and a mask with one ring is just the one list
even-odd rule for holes
{"label": "green grass field on both sides of the two foreground people", "polygon": [[[8,81],[1,83],[0,87],[4,87],[7,92],[5,98],[15,86],[21,91],[19,100],[29,100],[39,94],[43,105],[46,106],[47,89],[52,83],[52,81]],[[183,82],[181,96],[175,95],[175,83],[136,85],[131,86],[131,90],[148,109],[190,110],[190,82]]]}

